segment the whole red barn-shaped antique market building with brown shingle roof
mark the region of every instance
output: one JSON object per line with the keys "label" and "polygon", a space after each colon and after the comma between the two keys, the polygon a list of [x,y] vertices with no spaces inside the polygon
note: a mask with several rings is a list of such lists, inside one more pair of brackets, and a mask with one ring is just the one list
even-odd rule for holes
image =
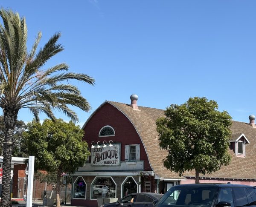
{"label": "whole red barn-shaped antique market building with brown shingle roof", "polygon": [[[71,205],[96,207],[97,198],[114,202],[129,193],[165,193],[174,185],[195,183],[195,172],[179,177],[163,167],[168,152],[159,147],[155,123],[164,110],[138,107],[137,99],[131,95],[131,104],[105,101],[82,127],[91,156],[73,174]],[[201,175],[201,183],[256,185],[254,120],[250,116],[250,123],[232,121],[232,162]]]}

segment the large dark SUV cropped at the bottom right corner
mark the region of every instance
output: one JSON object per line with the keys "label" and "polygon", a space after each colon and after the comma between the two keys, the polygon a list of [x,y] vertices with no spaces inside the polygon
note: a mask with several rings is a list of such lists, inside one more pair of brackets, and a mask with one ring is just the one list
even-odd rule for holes
{"label": "large dark SUV cropped at the bottom right corner", "polygon": [[256,187],[238,184],[183,184],[171,187],[155,207],[256,206]]}

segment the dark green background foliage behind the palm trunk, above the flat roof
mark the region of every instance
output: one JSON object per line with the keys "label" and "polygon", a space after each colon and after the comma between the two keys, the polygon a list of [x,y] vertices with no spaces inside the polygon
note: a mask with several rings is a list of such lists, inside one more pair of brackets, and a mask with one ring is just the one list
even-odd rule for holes
{"label": "dark green background foliage behind the palm trunk, above the flat roof", "polygon": [[[0,116],[0,155],[3,156],[3,141],[4,141],[4,121],[3,116]],[[16,125],[13,129],[13,151],[12,156],[14,157],[27,157],[26,146],[22,143],[22,133],[26,130],[26,124],[24,121],[17,120]]]}

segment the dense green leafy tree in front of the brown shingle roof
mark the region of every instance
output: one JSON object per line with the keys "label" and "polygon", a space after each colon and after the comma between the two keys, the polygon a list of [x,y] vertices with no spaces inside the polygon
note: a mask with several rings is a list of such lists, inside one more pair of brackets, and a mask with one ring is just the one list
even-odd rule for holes
{"label": "dense green leafy tree in front of the brown shingle roof", "polygon": [[156,122],[159,146],[168,150],[164,166],[180,176],[195,170],[195,183],[199,174],[205,175],[228,165],[231,116],[219,112],[215,101],[207,98],[189,98],[181,105],[172,104],[165,118]]}

